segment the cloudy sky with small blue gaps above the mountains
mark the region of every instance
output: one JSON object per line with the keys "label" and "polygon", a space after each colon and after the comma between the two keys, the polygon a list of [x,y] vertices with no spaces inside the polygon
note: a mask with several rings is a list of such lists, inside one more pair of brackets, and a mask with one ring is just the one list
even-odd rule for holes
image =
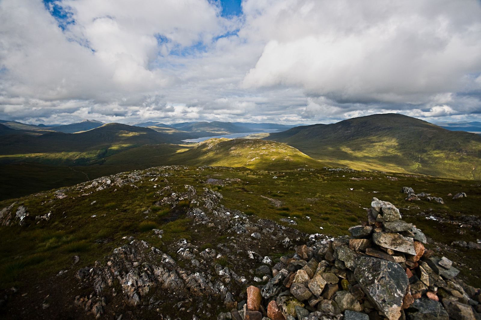
{"label": "cloudy sky with small blue gaps above the mountains", "polygon": [[0,0],[0,119],[481,120],[480,0]]}

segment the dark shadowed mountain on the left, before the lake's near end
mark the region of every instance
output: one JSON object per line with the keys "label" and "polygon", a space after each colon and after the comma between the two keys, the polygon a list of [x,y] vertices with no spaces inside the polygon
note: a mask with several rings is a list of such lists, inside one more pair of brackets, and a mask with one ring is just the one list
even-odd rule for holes
{"label": "dark shadowed mountain on the left, before the lake's near end", "polygon": [[80,133],[51,131],[39,136],[12,134],[2,138],[0,155],[4,164],[85,165],[144,144],[181,143],[171,135],[121,123],[108,123]]}

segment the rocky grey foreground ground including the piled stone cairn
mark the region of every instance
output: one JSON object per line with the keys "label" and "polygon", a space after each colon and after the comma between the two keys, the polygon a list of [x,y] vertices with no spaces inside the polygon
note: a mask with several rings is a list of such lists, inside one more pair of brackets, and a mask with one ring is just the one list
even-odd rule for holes
{"label": "rocky grey foreground ground including the piled stone cairn", "polygon": [[[141,178],[102,178],[76,188],[97,192]],[[57,198],[68,194],[64,189]],[[55,309],[46,296],[40,316],[25,319],[481,319],[481,290],[456,278],[456,262],[426,250],[427,237],[401,220],[390,202],[372,198],[366,221],[349,228],[351,237],[329,237],[229,210],[208,188],[185,185],[172,192],[167,186],[158,194],[159,205],[190,201],[192,228],[226,235],[226,243],[199,247],[180,238],[159,249],[124,237],[103,259],[79,268],[81,256],[75,256],[54,277],[55,283],[71,282],[65,289],[69,310]],[[3,225],[30,218],[23,206],[1,215]],[[42,219],[50,216],[35,217]],[[153,229],[153,238],[163,235]],[[291,253],[263,254],[270,247]]]}

